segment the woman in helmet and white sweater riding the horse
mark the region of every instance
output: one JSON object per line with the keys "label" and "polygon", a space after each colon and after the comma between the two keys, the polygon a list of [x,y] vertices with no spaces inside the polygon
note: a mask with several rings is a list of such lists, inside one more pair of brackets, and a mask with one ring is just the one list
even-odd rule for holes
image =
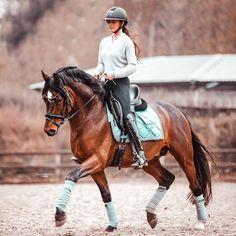
{"label": "woman in helmet and white sweater riding the horse", "polygon": [[147,165],[144,151],[139,140],[137,127],[130,112],[130,81],[128,76],[136,71],[137,58],[140,49],[130,34],[126,25],[127,13],[121,7],[112,7],[105,15],[106,23],[112,35],[102,39],[99,46],[98,65],[95,77],[105,74],[105,89],[120,102],[124,124],[130,141],[136,150],[137,160],[132,164],[135,168]]}

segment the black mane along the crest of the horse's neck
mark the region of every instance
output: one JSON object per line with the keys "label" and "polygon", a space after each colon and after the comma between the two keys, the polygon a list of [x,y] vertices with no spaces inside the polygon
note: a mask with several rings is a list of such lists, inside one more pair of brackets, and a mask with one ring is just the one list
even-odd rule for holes
{"label": "black mane along the crest of the horse's neck", "polygon": [[99,81],[96,80],[92,75],[86,73],[83,70],[80,70],[77,67],[62,67],[53,73],[52,77],[58,79],[64,85],[68,85],[70,79],[81,82],[92,89],[92,91],[98,95],[100,100],[104,101],[105,90]]}

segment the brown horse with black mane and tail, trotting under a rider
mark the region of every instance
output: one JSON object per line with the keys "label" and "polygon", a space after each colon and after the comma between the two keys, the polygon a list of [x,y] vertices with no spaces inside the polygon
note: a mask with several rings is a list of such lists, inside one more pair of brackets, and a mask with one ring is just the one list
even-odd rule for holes
{"label": "brown horse with black mane and tail, trotting under a rider", "polygon": [[[71,150],[78,162],[77,167],[66,177],[63,192],[56,205],[56,226],[65,222],[64,209],[74,183],[91,175],[99,187],[107,210],[109,226],[106,231],[113,231],[117,228],[118,221],[104,169],[111,165],[118,143],[113,138],[107,120],[104,108],[105,91],[98,80],[76,67],[61,68],[52,76],[42,71],[42,76],[45,80],[42,95],[47,110],[44,131],[49,136],[54,136],[60,125],[68,120]],[[166,102],[158,102],[157,112],[162,122],[164,139],[143,142],[148,159],[148,166],[143,167],[143,170],[159,183],[146,207],[147,221],[152,228],[156,226],[155,209],[175,179],[159,161],[169,151],[189,181],[191,192],[188,197],[196,204],[198,221],[204,224],[207,219],[205,205],[212,198],[207,159],[210,154],[179,109]],[[132,148],[128,145],[122,167],[130,167],[132,163]]]}

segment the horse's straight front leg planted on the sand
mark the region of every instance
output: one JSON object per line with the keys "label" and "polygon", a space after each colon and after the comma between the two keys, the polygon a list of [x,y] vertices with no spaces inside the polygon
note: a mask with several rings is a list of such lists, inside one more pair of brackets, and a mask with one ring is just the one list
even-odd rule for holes
{"label": "horse's straight front leg planted on the sand", "polygon": [[107,226],[105,231],[113,232],[117,228],[118,220],[117,220],[116,213],[115,213],[113,203],[111,200],[111,193],[109,190],[109,185],[107,183],[105,173],[104,173],[104,171],[98,172],[96,174],[93,174],[92,178],[95,181],[95,183],[97,184],[97,186],[101,192],[102,200],[105,204],[105,208],[107,211],[109,225]]}

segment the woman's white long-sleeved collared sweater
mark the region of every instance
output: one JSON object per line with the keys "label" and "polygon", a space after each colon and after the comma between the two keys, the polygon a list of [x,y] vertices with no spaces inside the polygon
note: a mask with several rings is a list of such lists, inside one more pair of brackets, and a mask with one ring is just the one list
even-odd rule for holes
{"label": "woman's white long-sleeved collared sweater", "polygon": [[134,43],[130,37],[121,33],[115,39],[112,39],[112,35],[102,39],[98,53],[99,73],[107,72],[113,78],[123,78],[133,74],[136,66]]}

